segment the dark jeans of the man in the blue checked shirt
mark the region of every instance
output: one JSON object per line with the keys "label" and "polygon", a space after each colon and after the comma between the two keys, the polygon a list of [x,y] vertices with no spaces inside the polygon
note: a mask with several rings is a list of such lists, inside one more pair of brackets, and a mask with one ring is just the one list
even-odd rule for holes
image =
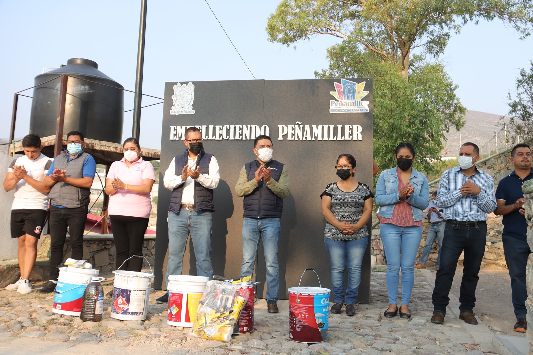
{"label": "dark jeans of the man in the blue checked shirt", "polygon": [[449,293],[454,280],[459,256],[464,251],[463,279],[459,290],[460,312],[472,312],[475,306],[475,288],[478,286],[479,268],[485,253],[487,222],[465,226],[446,222],[440,252],[440,267],[435,277],[435,288],[431,300],[433,312],[446,314],[450,303]]}

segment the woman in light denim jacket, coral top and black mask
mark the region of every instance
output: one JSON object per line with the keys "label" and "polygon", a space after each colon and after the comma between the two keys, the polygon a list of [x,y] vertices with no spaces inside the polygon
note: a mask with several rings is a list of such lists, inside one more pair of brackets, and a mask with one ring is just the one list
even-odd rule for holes
{"label": "woman in light denim jacket, coral top and black mask", "polygon": [[376,204],[379,206],[379,234],[387,255],[389,308],[385,317],[398,313],[398,283],[402,274],[400,317],[410,318],[409,301],[415,281],[415,260],[422,240],[423,210],[430,199],[427,178],[411,168],[415,148],[400,143],[394,154],[397,166],[384,170],[377,180]]}

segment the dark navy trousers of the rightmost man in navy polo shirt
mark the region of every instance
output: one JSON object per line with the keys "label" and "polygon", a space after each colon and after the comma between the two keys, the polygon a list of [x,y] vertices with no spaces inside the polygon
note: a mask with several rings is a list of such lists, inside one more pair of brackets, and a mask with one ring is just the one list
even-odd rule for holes
{"label": "dark navy trousers of the rightmost man in navy polo shirt", "polygon": [[517,239],[511,235],[502,235],[505,262],[511,277],[511,300],[513,301],[516,318],[526,318],[526,264],[531,253],[526,240]]}

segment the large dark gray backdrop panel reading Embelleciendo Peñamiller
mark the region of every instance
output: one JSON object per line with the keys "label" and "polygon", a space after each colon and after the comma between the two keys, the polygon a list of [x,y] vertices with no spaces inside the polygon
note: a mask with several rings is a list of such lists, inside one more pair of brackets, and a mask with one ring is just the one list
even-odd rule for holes
{"label": "large dark gray backdrop panel reading Embelleciendo Pe\u00f1amiller", "polygon": [[[273,159],[286,164],[290,178],[279,236],[279,298],[288,298],[287,288],[298,285],[305,268],[314,268],[322,287],[330,288],[326,221],[319,196],[327,184],[338,181],[334,165],[342,153],[356,158],[356,179],[372,186],[372,84],[372,79],[166,82],[154,287],[165,288],[166,211],[171,191],[163,185],[163,174],[172,158],[186,148],[181,140],[184,129],[197,126],[205,151],[214,154],[220,166],[220,184],[214,192],[214,274],[240,275],[243,199],[236,195],[235,185],[244,164],[256,159],[252,151],[255,137],[267,134],[273,141]],[[262,254],[260,246],[256,263],[257,280],[262,283],[257,287],[259,296],[266,291]],[[189,238],[183,274],[196,275],[195,264]],[[318,286],[316,275],[306,273],[302,285]],[[357,302],[368,303],[369,298],[370,238]]]}

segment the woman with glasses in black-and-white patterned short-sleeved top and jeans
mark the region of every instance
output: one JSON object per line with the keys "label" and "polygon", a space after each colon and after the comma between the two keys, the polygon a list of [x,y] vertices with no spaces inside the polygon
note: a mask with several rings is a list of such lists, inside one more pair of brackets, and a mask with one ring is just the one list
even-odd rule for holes
{"label": "woman with glasses in black-and-white patterned short-sleeved top and jeans", "polygon": [[[355,303],[361,282],[361,265],[368,244],[367,223],[372,216],[372,191],[370,187],[353,178],[356,159],[351,154],[337,158],[335,170],[340,178],[326,186],[320,195],[321,211],[326,218],[324,243],[332,263],[334,298],[331,312],[341,313],[346,305],[346,315],[356,314]],[[348,288],[344,296],[344,270],[348,268]]]}

